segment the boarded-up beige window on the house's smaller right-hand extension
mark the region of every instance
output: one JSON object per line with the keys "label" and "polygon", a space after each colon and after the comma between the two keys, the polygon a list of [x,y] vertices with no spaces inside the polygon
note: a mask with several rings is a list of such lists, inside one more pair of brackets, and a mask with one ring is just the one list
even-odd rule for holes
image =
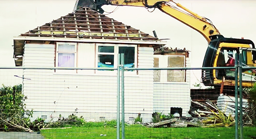
{"label": "boarded-up beige window on the house's smaller right-hand extension", "polygon": [[[154,68],[184,68],[185,56],[154,55]],[[185,70],[154,70],[154,82],[186,82]]]}

